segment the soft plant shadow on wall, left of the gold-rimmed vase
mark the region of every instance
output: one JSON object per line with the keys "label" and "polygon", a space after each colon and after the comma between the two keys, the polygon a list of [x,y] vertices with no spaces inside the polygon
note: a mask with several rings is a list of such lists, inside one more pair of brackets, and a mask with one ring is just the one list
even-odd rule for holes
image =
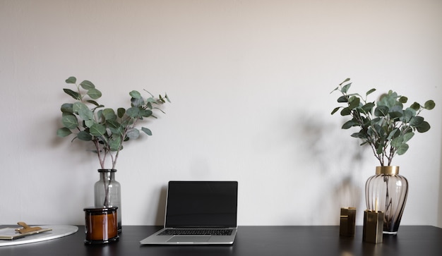
{"label": "soft plant shadow on wall, left of the gold-rimmed vase", "polygon": [[316,209],[323,209],[321,216],[312,216],[312,224],[339,224],[340,207],[357,207],[364,204],[364,157],[369,156],[369,147],[361,147],[360,141],[351,138],[356,130],[342,130],[340,124],[318,118],[323,114],[300,114],[304,120],[295,125],[297,145],[304,150],[304,157],[312,159],[321,178],[316,184],[318,191],[312,198]]}

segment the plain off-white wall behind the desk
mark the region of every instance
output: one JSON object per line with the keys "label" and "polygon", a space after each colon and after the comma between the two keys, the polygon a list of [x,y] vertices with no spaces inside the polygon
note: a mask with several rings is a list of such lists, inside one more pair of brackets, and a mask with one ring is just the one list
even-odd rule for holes
{"label": "plain off-white wall behind the desk", "polygon": [[442,1],[0,0],[0,224],[83,224],[99,164],[56,137],[64,80],[102,104],[167,92],[153,136],[117,164],[125,225],[161,224],[169,180],[239,181],[240,225],[336,225],[377,162],[340,130],[331,90],[434,99],[394,164],[402,224],[442,226]]}

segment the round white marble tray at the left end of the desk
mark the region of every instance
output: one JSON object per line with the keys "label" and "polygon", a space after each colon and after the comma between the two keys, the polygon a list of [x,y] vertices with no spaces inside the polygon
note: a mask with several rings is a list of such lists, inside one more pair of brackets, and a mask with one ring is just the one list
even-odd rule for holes
{"label": "round white marble tray at the left end of the desk", "polygon": [[71,225],[49,225],[40,226],[41,228],[52,228],[52,231],[38,233],[31,236],[25,236],[16,240],[0,240],[0,246],[6,245],[23,245],[24,243],[37,243],[45,240],[51,240],[55,238],[61,238],[71,235],[78,231],[78,226]]}

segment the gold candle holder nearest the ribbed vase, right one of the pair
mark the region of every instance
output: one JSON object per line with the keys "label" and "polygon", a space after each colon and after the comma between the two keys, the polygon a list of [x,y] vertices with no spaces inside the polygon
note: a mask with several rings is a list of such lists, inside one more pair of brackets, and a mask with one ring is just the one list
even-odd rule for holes
{"label": "gold candle holder nearest the ribbed vase, right one of the pair", "polygon": [[368,243],[382,243],[383,212],[366,209],[362,240]]}

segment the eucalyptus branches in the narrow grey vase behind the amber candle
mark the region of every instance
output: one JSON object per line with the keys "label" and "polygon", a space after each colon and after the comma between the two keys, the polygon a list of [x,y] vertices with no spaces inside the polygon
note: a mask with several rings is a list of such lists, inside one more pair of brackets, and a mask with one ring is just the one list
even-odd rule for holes
{"label": "eucalyptus branches in the narrow grey vase behind the amber candle", "polygon": [[152,135],[148,128],[138,129],[138,123],[145,118],[157,118],[153,111],[162,111],[159,105],[170,102],[167,95],[154,97],[148,92],[150,96],[143,98],[140,92],[133,90],[129,92],[131,106],[128,109],[119,107],[115,111],[97,102],[102,93],[89,80],[77,84],[77,79],[71,76],[66,79],[66,83],[75,86],[74,90],[63,89],[75,101],[61,105],[61,122],[64,127],[59,128],[56,134],[59,137],[73,134],[73,140],[92,142],[95,147],[93,152],[97,154],[102,169],[107,157],[111,157],[112,169],[115,169],[124,142],[139,138],[141,131]]}

